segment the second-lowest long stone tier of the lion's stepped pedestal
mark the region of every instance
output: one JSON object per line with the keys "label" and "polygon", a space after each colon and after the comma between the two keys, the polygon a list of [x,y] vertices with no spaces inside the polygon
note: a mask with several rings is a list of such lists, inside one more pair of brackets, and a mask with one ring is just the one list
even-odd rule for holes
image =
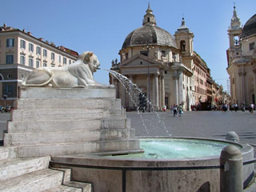
{"label": "second-lowest long stone tier of the lion's stepped pedestal", "polygon": [[[72,130],[72,128],[70,128]],[[4,134],[4,146],[28,146],[66,142],[94,142],[134,138],[134,129],[72,130],[44,133]]]}

